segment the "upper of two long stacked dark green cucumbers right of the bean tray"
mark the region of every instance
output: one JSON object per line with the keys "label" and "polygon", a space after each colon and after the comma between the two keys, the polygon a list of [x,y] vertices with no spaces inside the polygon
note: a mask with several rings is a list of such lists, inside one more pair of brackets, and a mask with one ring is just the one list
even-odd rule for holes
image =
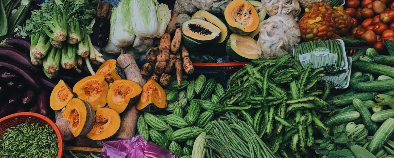
{"label": "upper of two long stacked dark green cucumbers right of the bean tray", "polygon": [[386,75],[394,78],[394,67],[390,67],[387,65],[377,64],[377,63],[368,63],[365,61],[354,61],[352,63],[352,69],[368,72],[372,74]]}

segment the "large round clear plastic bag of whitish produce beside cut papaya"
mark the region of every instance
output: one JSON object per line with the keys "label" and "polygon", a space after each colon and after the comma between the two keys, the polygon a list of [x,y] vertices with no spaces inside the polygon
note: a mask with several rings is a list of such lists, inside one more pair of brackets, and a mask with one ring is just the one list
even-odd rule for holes
{"label": "large round clear plastic bag of whitish produce beside cut papaya", "polygon": [[257,47],[261,58],[278,58],[291,53],[301,40],[297,22],[289,15],[277,14],[261,24]]}

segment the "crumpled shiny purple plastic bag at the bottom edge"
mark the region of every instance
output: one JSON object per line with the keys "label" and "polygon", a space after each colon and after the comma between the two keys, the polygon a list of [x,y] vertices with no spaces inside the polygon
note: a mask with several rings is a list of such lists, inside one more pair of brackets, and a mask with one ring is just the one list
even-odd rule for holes
{"label": "crumpled shiny purple plastic bag at the bottom edge", "polygon": [[104,147],[99,158],[177,158],[165,147],[159,147],[151,141],[148,143],[139,135],[128,139],[115,138],[102,143]]}

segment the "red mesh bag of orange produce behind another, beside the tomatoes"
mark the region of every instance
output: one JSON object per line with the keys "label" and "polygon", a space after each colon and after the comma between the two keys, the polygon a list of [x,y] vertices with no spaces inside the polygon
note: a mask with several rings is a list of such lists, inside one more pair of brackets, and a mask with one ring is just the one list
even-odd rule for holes
{"label": "red mesh bag of orange produce behind another, beside the tomatoes", "polygon": [[313,4],[309,9],[305,9],[305,12],[321,11],[323,13],[329,13],[331,17],[334,18],[336,25],[335,33],[338,35],[346,35],[351,26],[351,18],[346,14],[344,7],[334,7],[332,8],[329,4],[323,2]]}

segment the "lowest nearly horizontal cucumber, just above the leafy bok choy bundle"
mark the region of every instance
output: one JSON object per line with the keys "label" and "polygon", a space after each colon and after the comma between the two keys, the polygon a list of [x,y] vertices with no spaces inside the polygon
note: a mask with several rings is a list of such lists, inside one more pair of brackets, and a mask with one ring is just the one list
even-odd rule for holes
{"label": "lowest nearly horizontal cucumber, just above the leafy bok choy bundle", "polygon": [[324,125],[327,127],[331,127],[331,126],[339,125],[341,123],[353,121],[359,117],[360,117],[360,113],[356,111],[338,113],[336,115],[329,117],[327,121],[325,121]]}

